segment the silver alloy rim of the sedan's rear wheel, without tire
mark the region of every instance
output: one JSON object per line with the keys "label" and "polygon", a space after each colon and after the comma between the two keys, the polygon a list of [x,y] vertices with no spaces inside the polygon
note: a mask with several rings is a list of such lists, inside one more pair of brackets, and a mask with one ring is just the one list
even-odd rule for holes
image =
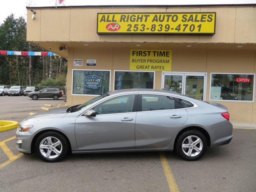
{"label": "silver alloy rim of the sedan's rear wheel, without tire", "polygon": [[190,157],[197,156],[203,149],[202,140],[195,135],[186,137],[182,142],[182,151]]}

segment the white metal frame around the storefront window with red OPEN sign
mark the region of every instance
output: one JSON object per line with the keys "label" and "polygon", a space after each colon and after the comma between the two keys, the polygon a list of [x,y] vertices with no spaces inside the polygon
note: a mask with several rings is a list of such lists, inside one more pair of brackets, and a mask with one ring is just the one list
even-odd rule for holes
{"label": "white metal frame around the storefront window with red OPEN sign", "polygon": [[[253,90],[252,90],[252,100],[251,101],[243,101],[243,100],[221,100],[221,99],[211,99],[211,88],[212,88],[212,74],[223,74],[223,75],[253,75]],[[210,92],[209,92],[209,101],[224,101],[224,102],[241,102],[241,103],[254,103],[255,97],[255,73],[210,73]]]}

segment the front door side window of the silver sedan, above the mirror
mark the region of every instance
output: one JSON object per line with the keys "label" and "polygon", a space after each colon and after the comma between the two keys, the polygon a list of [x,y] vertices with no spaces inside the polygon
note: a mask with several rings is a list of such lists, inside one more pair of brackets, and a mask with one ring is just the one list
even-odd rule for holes
{"label": "front door side window of the silver sedan, above the mirror", "polygon": [[114,114],[132,112],[135,95],[114,97],[94,107],[97,114]]}

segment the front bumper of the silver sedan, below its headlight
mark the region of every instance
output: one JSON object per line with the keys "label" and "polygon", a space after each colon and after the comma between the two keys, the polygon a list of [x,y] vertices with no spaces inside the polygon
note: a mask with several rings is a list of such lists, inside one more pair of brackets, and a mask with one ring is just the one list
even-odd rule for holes
{"label": "front bumper of the silver sedan, below its headlight", "polygon": [[18,129],[16,130],[15,133],[16,136],[16,142],[17,140],[22,140],[21,143],[16,143],[16,148],[19,152],[22,153],[31,153],[31,142],[33,135],[29,132],[20,132]]}

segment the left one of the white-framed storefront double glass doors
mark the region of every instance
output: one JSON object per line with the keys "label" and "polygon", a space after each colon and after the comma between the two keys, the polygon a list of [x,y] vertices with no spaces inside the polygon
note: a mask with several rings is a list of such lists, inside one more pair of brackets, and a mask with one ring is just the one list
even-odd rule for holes
{"label": "left one of the white-framed storefront double glass doors", "polygon": [[164,74],[162,85],[164,90],[176,91],[182,94],[184,74]]}

